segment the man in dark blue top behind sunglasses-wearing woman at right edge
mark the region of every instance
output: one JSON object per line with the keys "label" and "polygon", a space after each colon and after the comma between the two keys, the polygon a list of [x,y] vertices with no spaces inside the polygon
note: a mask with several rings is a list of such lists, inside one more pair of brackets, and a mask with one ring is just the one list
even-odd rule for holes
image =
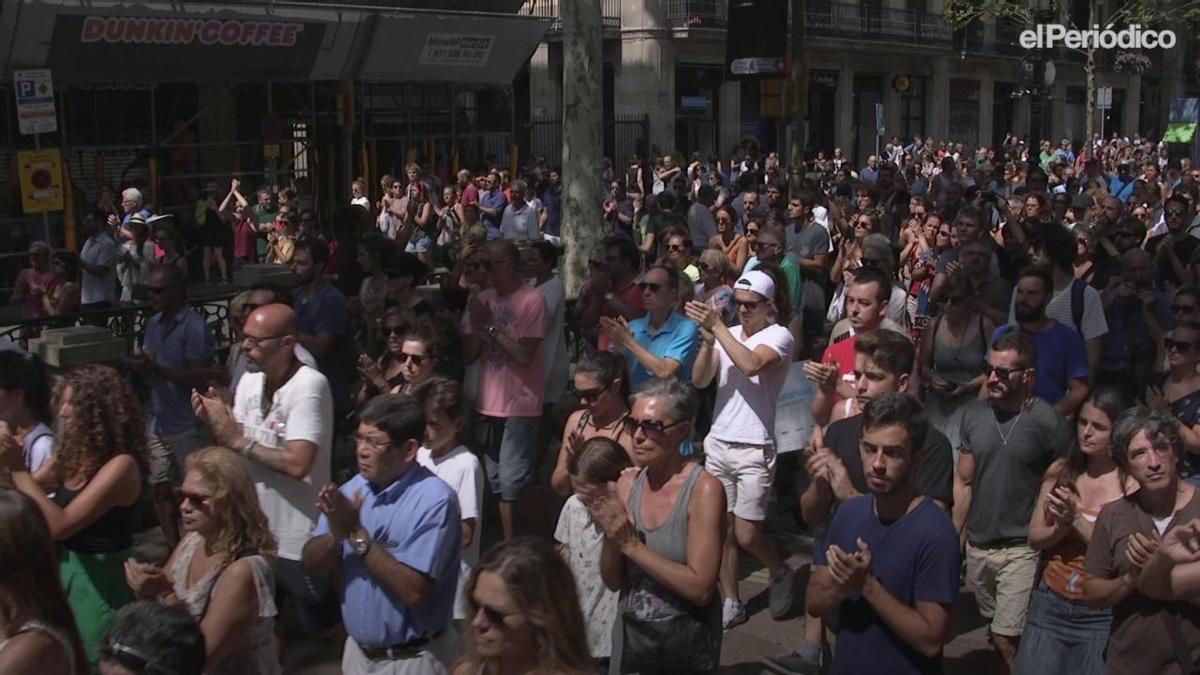
{"label": "man in dark blue top behind sunglasses-wearing woman at right edge", "polygon": [[1133,401],[1146,392],[1159,363],[1158,336],[1175,328],[1171,298],[1154,287],[1154,259],[1141,249],[1121,256],[1121,275],[1109,280],[1102,298],[1109,331],[1094,386],[1115,386]]}

